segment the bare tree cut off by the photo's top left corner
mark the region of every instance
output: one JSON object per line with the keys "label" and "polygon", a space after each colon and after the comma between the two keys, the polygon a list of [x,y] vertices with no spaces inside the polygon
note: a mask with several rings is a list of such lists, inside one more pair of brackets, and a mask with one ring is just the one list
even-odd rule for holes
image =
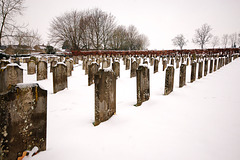
{"label": "bare tree cut off by the photo's top left corner", "polygon": [[1,0],[0,1],[0,46],[5,37],[13,36],[18,29],[13,18],[22,14],[24,0]]}

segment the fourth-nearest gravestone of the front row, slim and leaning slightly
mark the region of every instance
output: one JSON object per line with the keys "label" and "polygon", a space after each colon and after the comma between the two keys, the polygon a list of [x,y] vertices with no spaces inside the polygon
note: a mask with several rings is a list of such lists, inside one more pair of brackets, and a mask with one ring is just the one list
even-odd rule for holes
{"label": "fourth-nearest gravestone of the front row, slim and leaning slightly", "polygon": [[173,84],[174,84],[174,67],[168,66],[166,69],[164,95],[168,95],[173,91]]}

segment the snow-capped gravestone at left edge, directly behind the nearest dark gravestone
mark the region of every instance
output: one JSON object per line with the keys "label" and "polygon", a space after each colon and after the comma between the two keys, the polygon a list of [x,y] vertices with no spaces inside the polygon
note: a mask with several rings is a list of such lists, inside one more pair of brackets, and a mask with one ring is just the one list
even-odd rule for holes
{"label": "snow-capped gravestone at left edge, directly behind the nearest dark gravestone", "polygon": [[6,92],[11,85],[23,83],[23,69],[17,64],[8,64],[0,69],[0,93]]}

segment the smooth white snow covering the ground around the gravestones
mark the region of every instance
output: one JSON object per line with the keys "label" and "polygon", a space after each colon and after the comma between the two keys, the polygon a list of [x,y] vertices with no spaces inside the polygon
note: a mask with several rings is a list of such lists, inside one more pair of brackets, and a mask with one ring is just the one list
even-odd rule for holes
{"label": "smooth white snow covering the ground around the gravestones", "polygon": [[[82,63],[82,62],[81,62]],[[26,68],[26,64],[22,65]],[[240,59],[164,96],[165,72],[150,68],[150,100],[136,104],[136,78],[121,61],[117,113],[94,127],[94,85],[75,65],[68,89],[53,94],[52,74],[38,83],[48,90],[47,150],[35,160],[239,160]],[[37,82],[27,75],[24,82]]]}

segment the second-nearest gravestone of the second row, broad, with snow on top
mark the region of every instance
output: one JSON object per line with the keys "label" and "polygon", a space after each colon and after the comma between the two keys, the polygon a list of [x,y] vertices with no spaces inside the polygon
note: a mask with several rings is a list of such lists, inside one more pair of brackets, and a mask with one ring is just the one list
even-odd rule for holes
{"label": "second-nearest gravestone of the second row, broad, with snow on top", "polygon": [[57,93],[67,88],[67,66],[58,62],[53,67],[53,93]]}

